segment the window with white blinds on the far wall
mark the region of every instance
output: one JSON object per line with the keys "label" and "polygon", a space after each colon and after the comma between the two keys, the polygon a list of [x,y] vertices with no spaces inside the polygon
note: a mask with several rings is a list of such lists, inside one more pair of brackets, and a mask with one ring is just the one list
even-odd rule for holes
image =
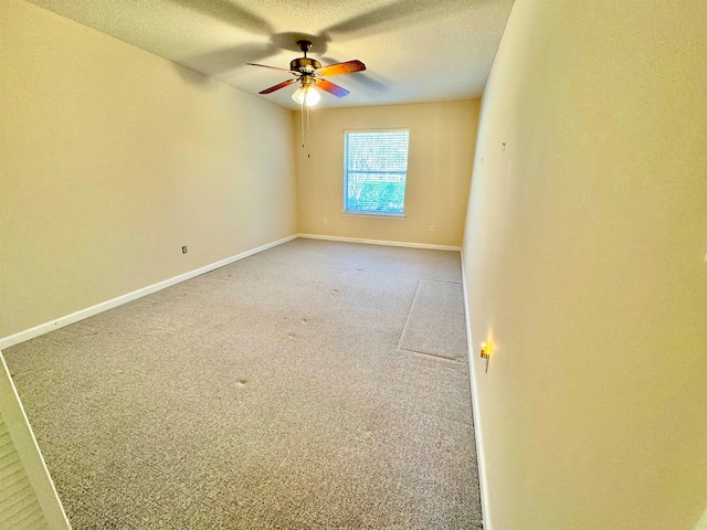
{"label": "window with white blinds on the far wall", "polygon": [[344,132],[344,211],[402,215],[409,130]]}

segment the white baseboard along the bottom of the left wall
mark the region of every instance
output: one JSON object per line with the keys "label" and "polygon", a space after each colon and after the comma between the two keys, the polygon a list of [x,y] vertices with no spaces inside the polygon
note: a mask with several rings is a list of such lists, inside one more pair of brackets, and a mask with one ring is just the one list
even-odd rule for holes
{"label": "white baseboard along the bottom of the left wall", "polygon": [[179,276],[175,276],[172,278],[158,282],[157,284],[148,285],[147,287],[143,287],[141,289],[134,290],[133,293],[128,293],[127,295],[122,295],[110,300],[102,301],[101,304],[96,304],[95,306],[91,306],[86,309],[81,309],[76,312],[72,312],[71,315],[66,315],[65,317],[60,317],[55,320],[51,320],[49,322],[41,324],[33,328],[25,329],[24,331],[20,331],[18,333],[0,338],[0,350],[2,350],[3,348],[10,348],[11,346],[14,346],[14,344],[19,344],[20,342],[24,342],[25,340],[33,339],[34,337],[39,337],[40,335],[48,333],[55,329],[63,328],[71,324],[83,320],[85,318],[93,317],[94,315],[98,315],[99,312],[107,311],[108,309],[113,309],[114,307],[122,306],[123,304],[127,304],[128,301],[136,300],[137,298],[141,298],[144,296],[150,295],[158,290],[170,287],[175,284],[186,282],[187,279],[191,279],[201,274],[209,273],[211,271],[223,267],[225,265],[230,265],[231,263],[252,256],[253,254],[257,254],[258,252],[263,252],[274,246],[282,245],[283,243],[287,243],[288,241],[292,241],[296,237],[297,237],[297,234],[291,235],[288,237],[284,237],[278,241],[274,241],[272,243],[267,243],[265,245],[258,246],[257,248],[252,248],[250,251],[242,252],[241,254],[238,254],[235,256],[226,257],[225,259],[221,259],[220,262],[215,262],[210,265],[205,265],[203,267],[197,268],[194,271],[180,274]]}

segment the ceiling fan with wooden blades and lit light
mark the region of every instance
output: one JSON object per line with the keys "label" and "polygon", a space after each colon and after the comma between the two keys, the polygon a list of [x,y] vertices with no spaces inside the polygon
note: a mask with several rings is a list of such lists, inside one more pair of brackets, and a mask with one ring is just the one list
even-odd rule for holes
{"label": "ceiling fan with wooden blades and lit light", "polygon": [[284,81],[275,86],[271,86],[270,88],[265,88],[258,94],[271,94],[275,91],[284,88],[285,86],[289,86],[293,83],[299,82],[302,86],[297,88],[292,98],[302,106],[310,107],[313,105],[316,105],[321,97],[319,96],[317,91],[314,89],[315,86],[328,92],[329,94],[334,94],[336,97],[344,97],[349,94],[349,91],[347,91],[346,88],[335,85],[330,81],[327,81],[323,77],[329,75],[352,74],[355,72],[362,72],[363,70],[366,70],[366,65],[357,60],[331,64],[329,66],[323,67],[319,61],[307,57],[307,52],[312,49],[310,41],[297,41],[297,45],[299,46],[299,50],[303,51],[305,56],[293,60],[289,63],[289,70],[278,68],[277,66],[267,66],[265,64],[246,63],[251,66],[261,66],[264,68],[289,72],[296,77]]}

